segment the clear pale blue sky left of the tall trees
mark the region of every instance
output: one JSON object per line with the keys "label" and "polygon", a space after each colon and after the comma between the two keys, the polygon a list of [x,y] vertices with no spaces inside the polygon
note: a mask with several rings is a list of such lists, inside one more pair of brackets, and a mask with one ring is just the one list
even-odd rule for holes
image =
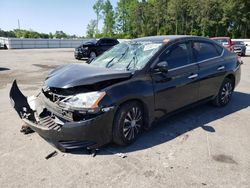
{"label": "clear pale blue sky left of the tall trees", "polygon": [[[117,0],[110,0],[113,8]],[[83,36],[91,19],[95,0],[0,0],[0,28],[32,29],[37,32]],[[102,27],[102,23],[99,24]]]}

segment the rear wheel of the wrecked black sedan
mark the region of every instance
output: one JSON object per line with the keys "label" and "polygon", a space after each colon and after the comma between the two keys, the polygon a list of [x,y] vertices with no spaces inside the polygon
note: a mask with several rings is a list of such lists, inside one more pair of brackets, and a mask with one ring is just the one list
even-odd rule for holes
{"label": "rear wheel of the wrecked black sedan", "polygon": [[218,107],[226,106],[231,100],[233,90],[233,81],[229,78],[225,78],[221,84],[218,95],[213,100],[213,104]]}

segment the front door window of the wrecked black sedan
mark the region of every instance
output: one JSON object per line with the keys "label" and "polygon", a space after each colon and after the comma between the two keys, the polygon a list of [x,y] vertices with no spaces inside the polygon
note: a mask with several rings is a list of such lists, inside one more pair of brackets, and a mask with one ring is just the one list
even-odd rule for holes
{"label": "front door window of the wrecked black sedan", "polygon": [[174,44],[160,56],[160,61],[166,61],[169,69],[174,69],[191,63],[188,43]]}

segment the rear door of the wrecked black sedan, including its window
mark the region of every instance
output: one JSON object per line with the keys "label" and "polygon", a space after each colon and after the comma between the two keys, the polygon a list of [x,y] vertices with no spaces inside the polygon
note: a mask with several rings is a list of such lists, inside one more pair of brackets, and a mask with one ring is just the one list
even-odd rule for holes
{"label": "rear door of the wrecked black sedan, including its window", "polygon": [[224,49],[209,41],[195,40],[192,44],[194,62],[199,67],[199,99],[217,94],[226,74]]}

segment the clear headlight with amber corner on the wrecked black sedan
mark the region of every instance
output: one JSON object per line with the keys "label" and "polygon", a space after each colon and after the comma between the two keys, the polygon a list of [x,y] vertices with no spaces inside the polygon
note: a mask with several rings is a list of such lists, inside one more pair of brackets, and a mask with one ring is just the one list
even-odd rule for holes
{"label": "clear headlight with amber corner on the wrecked black sedan", "polygon": [[94,109],[105,95],[105,92],[98,91],[77,94],[63,99],[59,105],[72,110]]}

